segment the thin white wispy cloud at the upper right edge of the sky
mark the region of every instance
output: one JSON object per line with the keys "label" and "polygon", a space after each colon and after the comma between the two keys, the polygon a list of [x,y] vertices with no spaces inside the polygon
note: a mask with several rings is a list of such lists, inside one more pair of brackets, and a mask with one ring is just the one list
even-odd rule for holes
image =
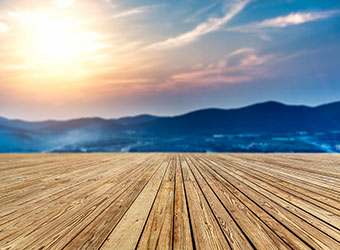
{"label": "thin white wispy cloud at the upper right edge of the sky", "polygon": [[318,21],[330,18],[339,14],[339,10],[331,11],[314,11],[314,12],[295,12],[286,16],[279,16],[272,19],[266,19],[261,22],[254,22],[242,26],[228,28],[227,31],[239,32],[258,32],[265,28],[285,28],[287,26],[299,25],[307,22]]}

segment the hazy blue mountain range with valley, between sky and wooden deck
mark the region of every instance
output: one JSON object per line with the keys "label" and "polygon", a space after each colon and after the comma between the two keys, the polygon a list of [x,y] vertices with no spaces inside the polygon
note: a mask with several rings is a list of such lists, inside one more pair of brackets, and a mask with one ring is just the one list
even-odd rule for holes
{"label": "hazy blue mountain range with valley, between sky and wooden deck", "polygon": [[0,152],[336,152],[339,131],[340,102],[308,107],[269,101],[171,117],[0,117]]}

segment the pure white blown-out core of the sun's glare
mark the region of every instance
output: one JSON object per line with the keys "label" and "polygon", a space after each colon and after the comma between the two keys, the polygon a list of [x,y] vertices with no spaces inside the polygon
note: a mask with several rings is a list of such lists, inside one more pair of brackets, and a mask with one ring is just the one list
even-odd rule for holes
{"label": "pure white blown-out core of the sun's glare", "polygon": [[86,29],[83,21],[60,12],[26,13],[26,40],[29,64],[41,73],[70,72],[103,48],[102,37]]}

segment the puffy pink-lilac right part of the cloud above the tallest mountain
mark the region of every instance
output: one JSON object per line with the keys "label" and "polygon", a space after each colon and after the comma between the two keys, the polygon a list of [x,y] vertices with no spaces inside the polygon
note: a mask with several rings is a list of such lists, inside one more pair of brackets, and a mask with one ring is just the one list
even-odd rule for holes
{"label": "puffy pink-lilac right part of the cloud above the tallest mountain", "polygon": [[159,86],[158,91],[193,91],[202,88],[216,88],[221,85],[250,83],[275,78],[280,74],[279,65],[307,51],[293,54],[261,54],[254,48],[241,48],[208,65],[198,65],[191,71],[172,75]]}

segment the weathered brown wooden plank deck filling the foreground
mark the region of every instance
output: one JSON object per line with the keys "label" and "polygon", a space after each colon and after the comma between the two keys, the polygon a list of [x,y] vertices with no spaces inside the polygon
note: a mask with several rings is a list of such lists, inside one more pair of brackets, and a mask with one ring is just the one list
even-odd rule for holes
{"label": "weathered brown wooden plank deck filling the foreground", "polygon": [[0,249],[340,249],[340,155],[0,155]]}

